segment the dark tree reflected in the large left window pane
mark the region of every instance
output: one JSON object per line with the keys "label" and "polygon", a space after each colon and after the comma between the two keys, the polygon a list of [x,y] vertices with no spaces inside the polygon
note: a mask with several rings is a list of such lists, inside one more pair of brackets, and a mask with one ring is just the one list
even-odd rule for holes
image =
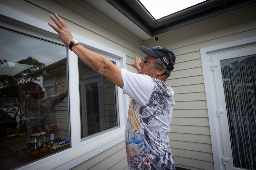
{"label": "dark tree reflected in the large left window pane", "polygon": [[[14,76],[0,75],[0,121],[10,120],[13,123],[12,127],[19,127],[23,132],[26,132],[26,125],[23,123],[23,113],[22,109],[18,104],[18,96],[15,95],[18,91],[17,88],[11,88],[8,83],[8,79],[13,78],[18,85],[18,88],[25,94],[27,94],[25,89],[26,82],[35,81],[38,82],[40,79],[38,77],[29,77],[29,73],[36,71],[38,68],[45,67],[45,64],[39,62],[37,59],[29,56],[27,59],[22,59],[17,61],[19,64],[31,65],[29,69],[26,69]],[[3,64],[3,63],[1,63]],[[19,119],[19,120],[18,120]],[[9,127],[0,127],[9,128]]]}

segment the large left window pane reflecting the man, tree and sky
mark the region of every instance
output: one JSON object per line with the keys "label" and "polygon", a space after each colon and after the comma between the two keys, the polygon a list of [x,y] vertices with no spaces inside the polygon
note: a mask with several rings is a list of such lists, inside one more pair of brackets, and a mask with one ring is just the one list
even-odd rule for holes
{"label": "large left window pane reflecting the man, tree and sky", "polygon": [[67,47],[3,28],[0,37],[0,164],[15,169],[70,147]]}

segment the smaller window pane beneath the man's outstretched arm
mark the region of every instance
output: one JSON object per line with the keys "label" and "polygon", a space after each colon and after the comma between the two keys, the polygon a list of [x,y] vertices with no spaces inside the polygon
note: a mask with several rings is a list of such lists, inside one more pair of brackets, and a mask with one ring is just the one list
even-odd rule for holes
{"label": "smaller window pane beneath the man's outstretched arm", "polygon": [[81,137],[118,127],[116,86],[80,59],[78,64]]}

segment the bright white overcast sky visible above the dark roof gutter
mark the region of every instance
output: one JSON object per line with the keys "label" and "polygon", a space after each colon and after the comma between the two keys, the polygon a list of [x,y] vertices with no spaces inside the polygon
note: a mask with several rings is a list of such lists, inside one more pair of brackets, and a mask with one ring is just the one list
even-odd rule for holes
{"label": "bright white overcast sky visible above the dark roof gutter", "polygon": [[206,0],[139,0],[157,20]]}

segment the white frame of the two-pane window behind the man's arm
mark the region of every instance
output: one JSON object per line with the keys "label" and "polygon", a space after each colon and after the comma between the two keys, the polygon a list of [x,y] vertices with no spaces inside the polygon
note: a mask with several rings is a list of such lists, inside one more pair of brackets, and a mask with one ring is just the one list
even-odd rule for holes
{"label": "white frame of the two-pane window behind the man's arm", "polygon": [[[47,22],[1,4],[0,15],[4,16],[0,20],[1,27],[16,30],[20,33],[25,33],[34,37],[43,38],[54,43],[63,44],[59,40],[58,34],[48,25]],[[117,66],[126,69],[126,55],[124,53],[75,33],[72,33],[72,35],[86,48],[89,48],[90,50],[95,51],[112,61],[115,61]],[[51,156],[47,156],[18,169],[71,169],[72,167],[124,141],[129,97],[123,94],[122,89],[118,88],[117,86],[117,113],[119,118],[119,127],[113,128],[113,130],[106,131],[105,133],[92,137],[88,140],[81,141],[81,128],[80,123],[78,123],[80,122],[78,57],[72,51],[68,51],[71,148],[63,150],[59,153],[55,153]]]}

